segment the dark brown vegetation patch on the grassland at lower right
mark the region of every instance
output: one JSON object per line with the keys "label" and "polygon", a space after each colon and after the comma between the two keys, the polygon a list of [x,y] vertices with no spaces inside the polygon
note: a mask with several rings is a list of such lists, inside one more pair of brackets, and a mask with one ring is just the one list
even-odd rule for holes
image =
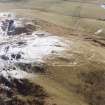
{"label": "dark brown vegetation patch on the grassland at lower right", "polygon": [[89,105],[105,104],[105,71],[82,72],[79,75],[81,83],[71,85],[73,91],[82,95]]}

